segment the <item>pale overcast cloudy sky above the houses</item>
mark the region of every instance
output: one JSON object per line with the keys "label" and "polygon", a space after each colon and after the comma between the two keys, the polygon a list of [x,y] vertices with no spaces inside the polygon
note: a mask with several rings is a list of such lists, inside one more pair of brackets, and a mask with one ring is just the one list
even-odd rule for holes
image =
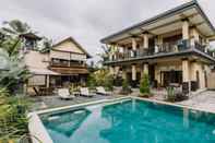
{"label": "pale overcast cloudy sky above the houses", "polygon": [[[21,20],[55,43],[72,36],[95,57],[103,52],[101,38],[187,1],[1,0],[0,23]],[[215,0],[198,1],[215,25]]]}

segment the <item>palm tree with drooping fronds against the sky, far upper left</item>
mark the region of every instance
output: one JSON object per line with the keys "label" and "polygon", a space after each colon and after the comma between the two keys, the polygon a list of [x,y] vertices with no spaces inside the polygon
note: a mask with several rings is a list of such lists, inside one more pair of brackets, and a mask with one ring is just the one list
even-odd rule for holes
{"label": "palm tree with drooping fronds against the sky, far upper left", "polygon": [[8,37],[8,40],[4,40],[4,47],[9,55],[14,55],[19,51],[21,38],[20,35],[32,33],[31,27],[27,23],[23,23],[19,20],[12,20],[9,22],[3,22],[4,27],[1,28],[1,32]]}

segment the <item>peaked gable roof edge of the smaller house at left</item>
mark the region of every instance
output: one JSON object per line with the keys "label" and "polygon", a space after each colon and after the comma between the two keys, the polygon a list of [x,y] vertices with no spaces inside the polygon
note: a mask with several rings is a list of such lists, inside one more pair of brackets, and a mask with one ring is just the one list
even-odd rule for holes
{"label": "peaked gable roof edge of the smaller house at left", "polygon": [[53,47],[57,47],[57,46],[59,46],[59,45],[61,45],[61,44],[63,44],[63,43],[65,43],[65,41],[71,41],[71,43],[73,43],[74,45],[76,45],[77,46],[77,48],[80,49],[80,50],[82,50],[85,55],[86,55],[86,57],[87,58],[92,58],[92,56],[73,38],[73,37],[68,37],[68,38],[65,38],[65,39],[63,39],[63,40],[61,40],[61,41],[59,41],[59,43],[57,43],[57,44],[55,44],[53,46],[52,46],[52,48]]}

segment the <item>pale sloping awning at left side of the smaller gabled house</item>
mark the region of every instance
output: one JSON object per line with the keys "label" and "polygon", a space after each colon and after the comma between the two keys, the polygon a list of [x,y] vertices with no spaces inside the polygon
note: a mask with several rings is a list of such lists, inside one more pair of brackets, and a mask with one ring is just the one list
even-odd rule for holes
{"label": "pale sloping awning at left side of the smaller gabled house", "polygon": [[28,68],[29,72],[36,75],[59,75],[60,73],[53,72],[48,69]]}

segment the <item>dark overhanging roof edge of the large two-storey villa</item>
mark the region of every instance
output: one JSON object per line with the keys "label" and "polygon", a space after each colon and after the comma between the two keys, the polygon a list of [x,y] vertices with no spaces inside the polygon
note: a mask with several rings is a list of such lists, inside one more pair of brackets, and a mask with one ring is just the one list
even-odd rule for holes
{"label": "dark overhanging roof edge of the large two-storey villa", "polygon": [[[135,32],[136,29],[144,29],[145,27],[147,27],[148,25],[153,25],[156,22],[163,21],[165,19],[171,17],[174,15],[183,13],[186,11],[189,11],[191,9],[196,10],[198,14],[201,15],[201,17],[204,20],[206,26],[208,26],[208,29],[213,33],[210,36],[214,36],[215,35],[215,28],[213,26],[213,24],[210,22],[208,17],[206,16],[206,14],[203,12],[202,8],[200,7],[200,4],[198,3],[196,0],[192,0],[190,2],[183,3],[175,9],[168,10],[162,14],[158,14],[154,17],[151,17],[148,20],[142,21],[141,23],[134,24],[128,28],[124,28],[118,33],[115,33],[112,35],[109,35],[103,39],[100,39],[101,43],[107,44],[107,43],[115,43],[115,40],[118,37],[128,37],[131,36],[131,34],[133,32]],[[145,29],[147,31],[147,28]],[[129,34],[128,34],[129,33]]]}

